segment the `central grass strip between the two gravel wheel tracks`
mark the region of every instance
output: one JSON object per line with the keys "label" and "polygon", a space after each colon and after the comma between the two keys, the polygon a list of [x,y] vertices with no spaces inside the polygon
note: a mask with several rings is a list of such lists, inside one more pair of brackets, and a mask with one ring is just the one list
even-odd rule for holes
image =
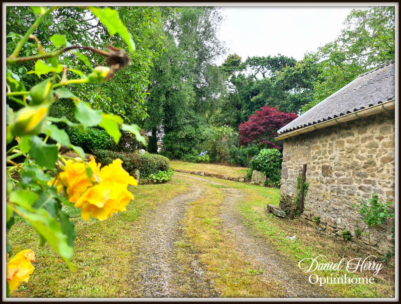
{"label": "central grass strip between the two gravel wheel tracks", "polygon": [[[238,184],[238,183],[237,183]],[[191,204],[183,220],[185,234],[198,252],[197,258],[206,267],[205,273],[213,279],[221,297],[277,297],[282,287],[277,281],[260,277],[263,271],[233,250],[223,231],[219,207],[224,195],[221,189],[206,186],[204,198]]]}

